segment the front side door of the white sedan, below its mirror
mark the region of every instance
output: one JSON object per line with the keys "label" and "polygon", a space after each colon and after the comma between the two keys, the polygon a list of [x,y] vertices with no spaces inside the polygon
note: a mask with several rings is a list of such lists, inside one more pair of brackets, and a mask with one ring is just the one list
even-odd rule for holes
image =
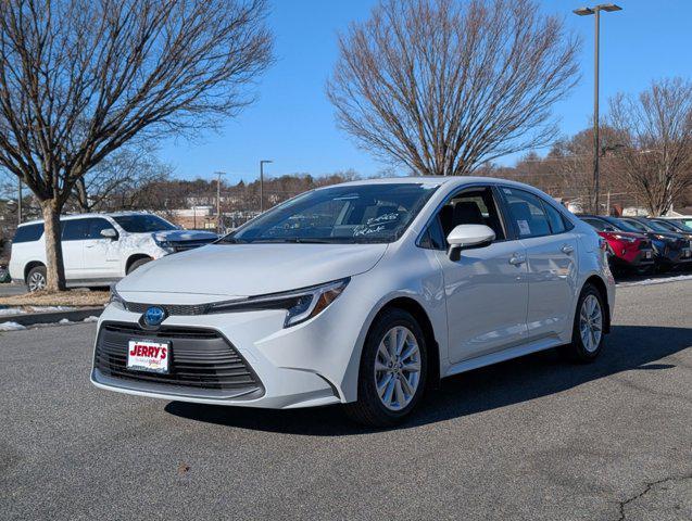
{"label": "front side door of the white sedan, below its mirror", "polygon": [[457,260],[437,252],[444,275],[452,364],[526,340],[526,247],[507,234],[499,207],[493,190],[478,187],[454,195],[438,216],[443,237],[464,224],[495,231],[492,244],[465,249]]}

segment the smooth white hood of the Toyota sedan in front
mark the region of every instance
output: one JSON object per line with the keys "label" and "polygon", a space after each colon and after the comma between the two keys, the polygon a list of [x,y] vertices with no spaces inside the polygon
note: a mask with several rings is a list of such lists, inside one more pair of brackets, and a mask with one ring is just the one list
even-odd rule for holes
{"label": "smooth white hood of the Toyota sedan in front", "polygon": [[262,295],[363,274],[386,251],[387,244],[210,244],[146,264],[117,291]]}

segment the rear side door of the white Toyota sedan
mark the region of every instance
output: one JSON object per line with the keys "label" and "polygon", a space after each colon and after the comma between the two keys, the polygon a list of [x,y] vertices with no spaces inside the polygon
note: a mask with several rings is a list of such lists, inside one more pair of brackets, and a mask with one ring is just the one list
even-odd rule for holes
{"label": "rear side door of the white Toyota sedan", "polygon": [[526,190],[503,187],[515,233],[526,246],[529,340],[571,329],[578,282],[578,239],[571,224],[549,201]]}

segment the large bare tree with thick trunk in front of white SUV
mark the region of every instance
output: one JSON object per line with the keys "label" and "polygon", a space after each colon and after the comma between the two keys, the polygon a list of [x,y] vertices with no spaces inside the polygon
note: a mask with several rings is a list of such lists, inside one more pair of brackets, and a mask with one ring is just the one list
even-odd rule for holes
{"label": "large bare tree with thick trunk in front of white SUV", "polygon": [[59,214],[135,139],[205,127],[270,62],[265,0],[0,0],[0,166],[36,194],[48,289],[64,289]]}

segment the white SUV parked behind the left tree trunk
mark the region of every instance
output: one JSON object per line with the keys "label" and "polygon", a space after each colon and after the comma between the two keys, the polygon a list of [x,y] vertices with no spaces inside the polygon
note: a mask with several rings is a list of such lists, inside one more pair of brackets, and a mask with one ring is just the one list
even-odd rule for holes
{"label": "white SUV parked behind the left tree trunk", "polygon": [[[68,287],[109,285],[142,264],[209,244],[209,231],[181,230],[147,213],[81,214],[61,217],[62,251]],[[46,287],[43,221],[20,225],[12,241],[10,275],[29,291]]]}

